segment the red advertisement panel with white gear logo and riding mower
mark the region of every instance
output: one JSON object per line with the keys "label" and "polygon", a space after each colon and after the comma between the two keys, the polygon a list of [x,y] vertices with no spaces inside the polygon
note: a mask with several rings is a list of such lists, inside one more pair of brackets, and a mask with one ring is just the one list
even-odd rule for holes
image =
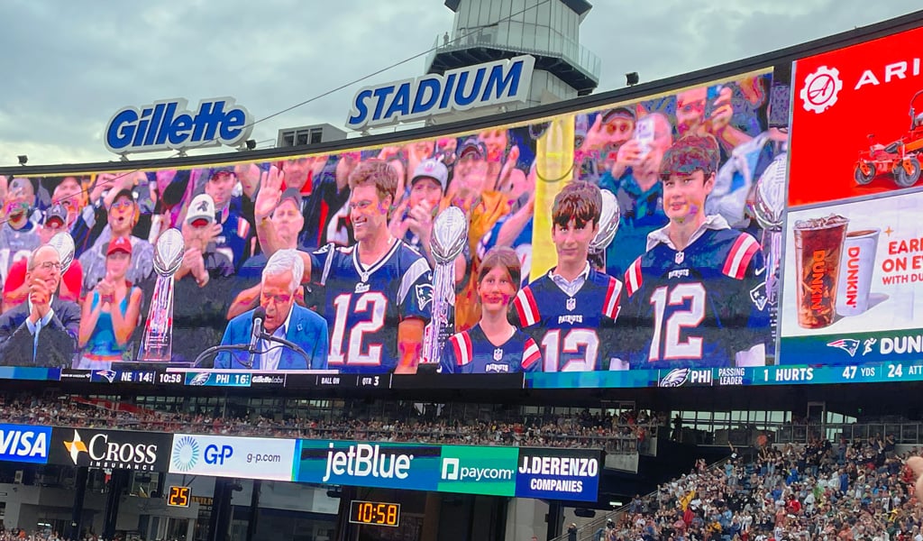
{"label": "red advertisement panel with white gear logo and riding mower", "polygon": [[907,30],[797,61],[789,205],[921,186],[921,41]]}

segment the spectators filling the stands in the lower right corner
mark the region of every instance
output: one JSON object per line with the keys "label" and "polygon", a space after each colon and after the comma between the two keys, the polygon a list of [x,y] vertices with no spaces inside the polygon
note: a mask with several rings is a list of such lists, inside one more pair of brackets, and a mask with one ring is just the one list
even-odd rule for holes
{"label": "spectators filling the stands in the lower right corner", "polygon": [[[581,539],[920,541],[923,508],[893,438],[757,447],[632,499]],[[592,535],[592,536],[591,536]]]}

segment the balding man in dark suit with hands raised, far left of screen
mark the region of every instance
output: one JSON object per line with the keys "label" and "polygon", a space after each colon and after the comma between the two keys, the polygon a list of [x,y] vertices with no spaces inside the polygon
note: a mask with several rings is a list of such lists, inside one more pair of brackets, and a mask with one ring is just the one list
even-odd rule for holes
{"label": "balding man in dark suit with hands raised, far left of screen", "polygon": [[53,246],[32,250],[26,261],[29,298],[0,315],[0,365],[70,367],[77,352],[80,307],[54,294],[61,258]]}

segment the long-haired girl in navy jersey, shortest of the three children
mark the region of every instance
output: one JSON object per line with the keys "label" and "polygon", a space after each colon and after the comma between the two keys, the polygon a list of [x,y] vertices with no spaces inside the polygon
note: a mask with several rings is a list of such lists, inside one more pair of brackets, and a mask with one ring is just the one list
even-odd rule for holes
{"label": "long-haired girl in navy jersey, shortest of the three children", "polygon": [[541,367],[538,345],[509,323],[520,273],[512,248],[498,246],[485,254],[477,276],[481,320],[449,339],[439,358],[443,374],[532,372]]}

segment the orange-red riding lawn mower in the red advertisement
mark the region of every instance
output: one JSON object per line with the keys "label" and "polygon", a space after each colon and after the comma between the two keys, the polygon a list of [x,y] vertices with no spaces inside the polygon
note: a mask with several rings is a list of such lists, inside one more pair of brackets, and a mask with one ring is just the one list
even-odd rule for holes
{"label": "orange-red riding lawn mower in the red advertisement", "polygon": [[902,138],[889,145],[875,143],[875,136],[869,135],[869,150],[859,152],[854,176],[859,185],[867,185],[882,173],[894,175],[894,184],[910,187],[920,177],[920,150],[923,150],[923,112],[917,99],[923,90],[917,91],[910,100],[910,130]]}

